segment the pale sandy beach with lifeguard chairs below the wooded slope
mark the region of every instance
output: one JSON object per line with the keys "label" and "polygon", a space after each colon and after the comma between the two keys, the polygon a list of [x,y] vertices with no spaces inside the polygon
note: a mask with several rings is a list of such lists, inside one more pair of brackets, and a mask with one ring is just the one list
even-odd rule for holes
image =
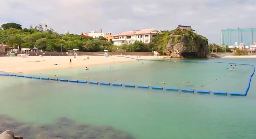
{"label": "pale sandy beach with lifeguard chairs below the wooded slope", "polygon": [[[129,57],[137,58],[139,56]],[[140,59],[153,58],[153,56],[140,56]],[[70,64],[70,59],[72,60],[72,64]],[[85,66],[90,68],[91,66],[101,64],[121,64],[122,62],[134,61],[133,59],[119,56],[112,56],[109,58],[104,56],[89,56],[89,59],[87,59],[87,56],[76,56],[76,59],[74,59],[74,56],[30,56],[29,58],[0,57],[0,60],[0,71],[21,74],[60,68],[85,68]]]}

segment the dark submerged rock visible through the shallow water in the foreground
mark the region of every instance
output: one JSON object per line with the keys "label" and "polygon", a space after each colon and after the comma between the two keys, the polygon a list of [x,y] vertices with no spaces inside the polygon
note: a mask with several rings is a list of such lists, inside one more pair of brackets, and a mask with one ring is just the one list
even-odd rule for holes
{"label": "dark submerged rock visible through the shallow water in the foreground", "polygon": [[65,117],[59,118],[55,124],[31,125],[0,115],[0,132],[8,129],[25,139],[134,139],[111,126],[77,124]]}

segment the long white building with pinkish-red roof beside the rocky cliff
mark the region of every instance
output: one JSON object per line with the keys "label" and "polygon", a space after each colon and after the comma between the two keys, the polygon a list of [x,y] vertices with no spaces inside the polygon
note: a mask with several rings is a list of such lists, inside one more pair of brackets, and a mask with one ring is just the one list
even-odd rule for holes
{"label": "long white building with pinkish-red roof beside the rocky cliff", "polygon": [[142,29],[142,30],[134,30],[134,31],[126,31],[114,35],[114,45],[120,46],[122,44],[130,44],[135,41],[141,41],[144,43],[152,42],[153,38],[156,37],[156,33],[159,31],[156,29]]}

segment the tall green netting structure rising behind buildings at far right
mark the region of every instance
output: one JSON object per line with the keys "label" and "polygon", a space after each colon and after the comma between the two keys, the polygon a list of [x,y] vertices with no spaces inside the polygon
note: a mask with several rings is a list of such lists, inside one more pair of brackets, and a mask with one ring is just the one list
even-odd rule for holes
{"label": "tall green netting structure rising behind buildings at far right", "polygon": [[233,45],[243,43],[245,46],[250,46],[256,41],[256,28],[237,28],[225,29],[221,31],[221,44]]}

